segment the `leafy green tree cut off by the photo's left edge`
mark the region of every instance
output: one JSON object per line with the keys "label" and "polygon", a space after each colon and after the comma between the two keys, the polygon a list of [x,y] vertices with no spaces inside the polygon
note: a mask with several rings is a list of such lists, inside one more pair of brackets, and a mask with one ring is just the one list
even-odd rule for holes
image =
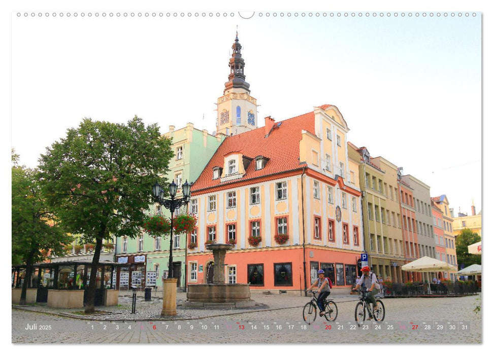
{"label": "leafy green tree cut off by the photo's left edge", "polygon": [[19,166],[12,151],[12,264],[26,265],[20,304],[26,304],[32,265],[45,258],[42,250],[61,253],[61,243],[70,241],[45,201],[36,169]]}

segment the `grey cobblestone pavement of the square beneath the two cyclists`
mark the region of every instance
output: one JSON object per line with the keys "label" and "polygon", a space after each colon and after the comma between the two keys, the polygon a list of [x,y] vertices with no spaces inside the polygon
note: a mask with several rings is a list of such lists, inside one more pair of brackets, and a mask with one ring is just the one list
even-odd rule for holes
{"label": "grey cobblestone pavement of the square beneath the two cyclists", "polygon": [[[308,298],[288,295],[252,296],[256,302],[265,305],[264,309],[179,309],[180,317],[188,321],[82,320],[31,311],[46,308],[42,306],[19,307],[12,309],[12,342],[478,344],[482,341],[481,315],[473,309],[479,304],[479,297],[384,299],[386,316],[380,329],[374,329],[377,325],[372,322],[365,322],[368,329],[355,326],[356,298],[350,295],[335,298],[339,310],[335,323],[318,317],[312,325],[302,322],[302,309]],[[126,307],[131,300],[120,300],[122,305],[115,308],[121,310],[120,316],[126,317]],[[152,316],[160,311],[160,307],[161,300],[142,301],[137,310],[141,317],[142,313]],[[425,329],[422,322],[428,322],[430,329]],[[26,330],[27,325],[35,329]],[[443,329],[438,329],[440,325]],[[413,330],[413,326],[417,327]]]}

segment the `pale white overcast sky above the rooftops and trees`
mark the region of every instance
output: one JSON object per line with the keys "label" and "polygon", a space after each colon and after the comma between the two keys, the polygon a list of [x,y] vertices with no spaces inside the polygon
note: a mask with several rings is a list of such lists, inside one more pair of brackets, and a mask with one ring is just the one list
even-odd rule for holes
{"label": "pale white overcast sky above the rooftops and trees", "polygon": [[[82,118],[215,130],[238,25],[259,126],[324,103],[348,139],[481,209],[481,14],[12,19],[12,146],[34,167]],[[123,12],[121,12],[123,14]],[[128,12],[129,14],[129,12]],[[364,14],[364,13],[363,13]],[[435,13],[436,14],[436,13]],[[463,13],[464,14],[464,13]]]}

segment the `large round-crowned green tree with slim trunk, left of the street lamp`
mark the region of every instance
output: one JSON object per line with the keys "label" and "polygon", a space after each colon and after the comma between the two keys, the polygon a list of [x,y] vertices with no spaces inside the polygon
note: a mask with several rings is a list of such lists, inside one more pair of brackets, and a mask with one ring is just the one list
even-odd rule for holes
{"label": "large round-crowned green tree with slim trunk, left of the street lamp", "polygon": [[43,189],[62,225],[95,241],[85,312],[94,312],[103,239],[141,234],[152,185],[166,183],[174,153],[156,124],[137,116],[125,124],[84,119],[41,156]]}

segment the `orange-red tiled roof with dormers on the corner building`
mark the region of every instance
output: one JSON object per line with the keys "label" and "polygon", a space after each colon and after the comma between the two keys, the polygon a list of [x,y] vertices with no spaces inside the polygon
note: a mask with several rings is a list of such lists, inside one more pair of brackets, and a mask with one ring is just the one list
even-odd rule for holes
{"label": "orange-red tiled roof with dormers on the corner building", "polygon": [[[278,126],[279,123],[281,123],[280,126]],[[276,122],[268,137],[266,137],[265,127],[226,137],[193,184],[192,192],[300,168],[302,166],[299,160],[302,130],[315,134],[313,112]],[[225,168],[223,166],[224,157],[231,152],[240,152],[251,159],[261,155],[269,160],[260,170],[255,170],[255,162],[252,161],[241,179],[224,183],[221,183],[220,178],[212,180],[212,168],[215,166]]]}

